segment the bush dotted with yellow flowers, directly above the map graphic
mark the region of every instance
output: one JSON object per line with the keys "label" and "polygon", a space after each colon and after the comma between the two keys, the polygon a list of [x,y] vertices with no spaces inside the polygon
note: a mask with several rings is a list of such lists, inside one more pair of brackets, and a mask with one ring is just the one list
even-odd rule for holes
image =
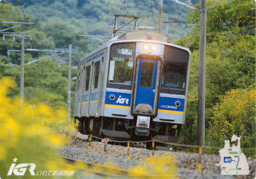
{"label": "bush dotted with yellow flowers, directly above the map graphic", "polygon": [[[231,140],[234,134],[241,136],[241,147],[255,150],[255,89],[233,89],[220,96],[220,103],[212,106],[212,113],[206,129],[209,146],[223,147],[224,140]],[[246,148],[243,152],[250,154]]]}

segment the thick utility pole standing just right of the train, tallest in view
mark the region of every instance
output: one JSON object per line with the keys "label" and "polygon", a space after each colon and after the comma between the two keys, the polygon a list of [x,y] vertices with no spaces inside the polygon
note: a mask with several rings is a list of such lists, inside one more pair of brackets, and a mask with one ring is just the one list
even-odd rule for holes
{"label": "thick utility pole standing just right of the train, tallest in view", "polygon": [[200,43],[199,43],[199,76],[198,76],[198,121],[197,145],[205,145],[205,66],[206,66],[206,12],[207,0],[201,0],[200,10]]}

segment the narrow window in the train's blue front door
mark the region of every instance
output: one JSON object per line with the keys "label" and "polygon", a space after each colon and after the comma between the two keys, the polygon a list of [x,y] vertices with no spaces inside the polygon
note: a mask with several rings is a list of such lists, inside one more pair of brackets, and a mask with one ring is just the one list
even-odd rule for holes
{"label": "narrow window in the train's blue front door", "polygon": [[141,76],[140,76],[141,87],[152,88],[154,69],[155,69],[155,62],[142,61]]}

